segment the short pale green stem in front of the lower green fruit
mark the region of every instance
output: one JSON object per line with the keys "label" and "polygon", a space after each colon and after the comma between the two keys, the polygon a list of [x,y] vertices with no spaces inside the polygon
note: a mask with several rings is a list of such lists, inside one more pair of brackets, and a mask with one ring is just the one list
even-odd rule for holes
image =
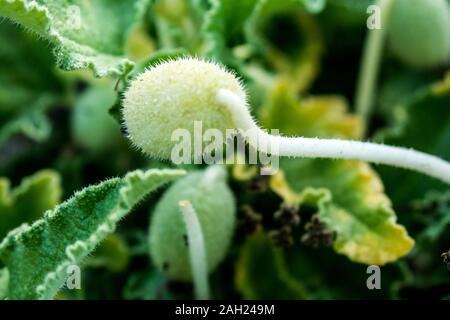
{"label": "short pale green stem in front of the lower green fruit", "polygon": [[195,297],[207,300],[209,299],[208,267],[202,228],[197,213],[189,201],[180,201],[179,206],[187,229]]}

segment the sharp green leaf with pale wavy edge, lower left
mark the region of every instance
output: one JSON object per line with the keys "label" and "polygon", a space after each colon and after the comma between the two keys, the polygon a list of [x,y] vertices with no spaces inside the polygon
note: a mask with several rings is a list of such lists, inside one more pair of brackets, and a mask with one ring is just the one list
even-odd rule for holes
{"label": "sharp green leaf with pale wavy edge, lower left", "polygon": [[136,170],[87,187],[31,226],[11,231],[0,244],[0,259],[10,272],[8,298],[54,297],[68,266],[81,263],[149,192],[183,174]]}

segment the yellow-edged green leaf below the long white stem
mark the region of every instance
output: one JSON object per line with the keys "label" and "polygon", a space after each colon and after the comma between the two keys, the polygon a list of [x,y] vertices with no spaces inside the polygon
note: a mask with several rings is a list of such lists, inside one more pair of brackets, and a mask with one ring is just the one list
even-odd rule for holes
{"label": "yellow-edged green leaf below the long white stem", "polygon": [[274,189],[289,194],[286,202],[317,208],[321,221],[337,234],[336,252],[355,262],[384,265],[411,250],[414,241],[396,223],[381,180],[368,164],[287,159],[280,166],[287,182],[280,175]]}

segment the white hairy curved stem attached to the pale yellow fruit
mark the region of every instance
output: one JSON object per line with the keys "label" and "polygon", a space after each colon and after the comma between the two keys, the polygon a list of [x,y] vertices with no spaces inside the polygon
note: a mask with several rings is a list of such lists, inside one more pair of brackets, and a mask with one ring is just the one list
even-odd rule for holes
{"label": "white hairy curved stem attached to the pale yellow fruit", "polygon": [[248,143],[261,152],[277,156],[349,159],[385,164],[418,171],[450,184],[450,163],[438,157],[413,149],[371,142],[272,136],[256,125],[246,103],[231,91],[219,90],[217,100],[230,110],[236,128],[243,131]]}

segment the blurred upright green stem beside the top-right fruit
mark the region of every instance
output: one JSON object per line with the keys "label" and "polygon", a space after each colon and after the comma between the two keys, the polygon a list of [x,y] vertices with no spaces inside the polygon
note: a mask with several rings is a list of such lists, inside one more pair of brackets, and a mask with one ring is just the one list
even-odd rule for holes
{"label": "blurred upright green stem beside the top-right fruit", "polygon": [[384,39],[394,1],[395,0],[377,1],[376,5],[380,8],[381,28],[369,30],[364,43],[355,94],[356,112],[363,121],[364,134],[370,122],[373,97],[384,47]]}

